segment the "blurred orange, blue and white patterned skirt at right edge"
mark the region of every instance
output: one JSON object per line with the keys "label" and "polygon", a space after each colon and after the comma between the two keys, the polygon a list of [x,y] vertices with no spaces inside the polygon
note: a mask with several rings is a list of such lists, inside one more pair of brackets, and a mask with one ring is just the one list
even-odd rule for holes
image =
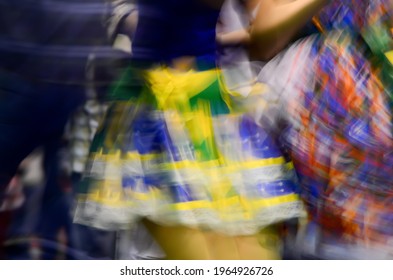
{"label": "blurred orange, blue and white patterned skirt at right edge", "polygon": [[272,89],[275,118],[287,124],[281,140],[311,216],[347,241],[388,244],[392,92],[383,79],[388,68],[370,57],[356,34],[331,31],[291,46],[266,65],[259,80]]}

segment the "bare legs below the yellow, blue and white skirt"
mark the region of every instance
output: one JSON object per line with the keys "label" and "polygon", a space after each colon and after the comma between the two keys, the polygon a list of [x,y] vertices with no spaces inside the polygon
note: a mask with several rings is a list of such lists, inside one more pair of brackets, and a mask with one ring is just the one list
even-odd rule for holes
{"label": "bare legs below the yellow, blue and white skirt", "polygon": [[247,236],[228,236],[184,226],[160,226],[145,220],[144,224],[166,253],[175,260],[261,260],[279,259],[277,231],[266,228]]}

